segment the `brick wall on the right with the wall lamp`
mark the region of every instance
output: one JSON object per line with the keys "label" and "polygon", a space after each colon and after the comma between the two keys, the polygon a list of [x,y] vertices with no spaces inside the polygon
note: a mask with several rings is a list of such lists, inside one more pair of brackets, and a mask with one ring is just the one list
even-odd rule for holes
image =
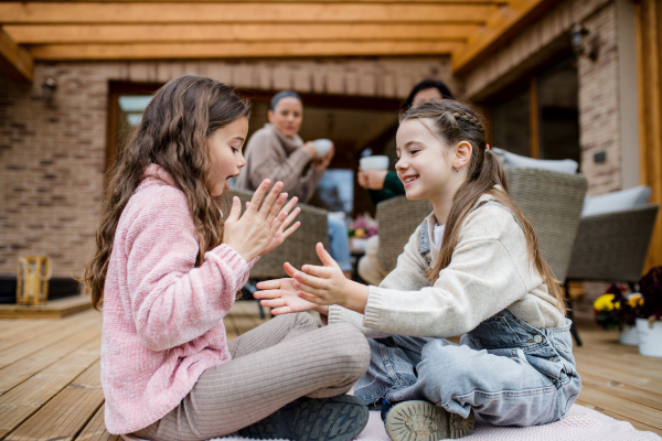
{"label": "brick wall on the right with the wall lamp", "polygon": [[[466,77],[471,99],[503,89],[544,60],[569,44],[569,30],[581,22],[588,45],[598,46],[598,60],[578,61],[579,144],[581,173],[588,180],[587,195],[622,189],[621,121],[619,108],[619,60],[617,6],[615,0],[566,0],[538,22],[522,31]],[[595,153],[606,161],[596,163]]]}

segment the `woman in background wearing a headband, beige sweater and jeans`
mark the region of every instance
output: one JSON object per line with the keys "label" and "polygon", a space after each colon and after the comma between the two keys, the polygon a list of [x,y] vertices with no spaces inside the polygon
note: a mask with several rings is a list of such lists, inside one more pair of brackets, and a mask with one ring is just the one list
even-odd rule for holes
{"label": "woman in background wearing a headband, beige sweater and jeans", "polygon": [[[257,130],[246,146],[246,171],[236,182],[239,189],[255,191],[265,179],[284,183],[282,191],[308,202],[335,153],[317,154],[312,142],[299,137],[303,121],[301,97],[292,90],[279,92],[271,98],[269,122]],[[310,168],[306,168],[310,164]],[[329,217],[329,251],[348,278],[352,273],[346,226]]]}

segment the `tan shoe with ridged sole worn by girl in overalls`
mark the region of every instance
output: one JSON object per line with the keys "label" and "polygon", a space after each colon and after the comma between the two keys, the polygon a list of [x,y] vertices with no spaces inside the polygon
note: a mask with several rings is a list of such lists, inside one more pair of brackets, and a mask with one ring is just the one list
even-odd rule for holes
{"label": "tan shoe with ridged sole worn by girl in overalls", "polygon": [[427,401],[403,401],[386,415],[386,433],[393,441],[437,441],[471,434],[473,410],[469,418],[450,413]]}

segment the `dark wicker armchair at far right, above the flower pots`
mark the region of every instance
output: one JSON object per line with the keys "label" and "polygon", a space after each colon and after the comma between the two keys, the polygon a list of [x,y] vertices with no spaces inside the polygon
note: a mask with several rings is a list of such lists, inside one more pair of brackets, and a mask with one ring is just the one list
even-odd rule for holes
{"label": "dark wicker armchair at far right, above the flower pots", "polygon": [[567,279],[637,282],[641,278],[659,206],[583,217]]}

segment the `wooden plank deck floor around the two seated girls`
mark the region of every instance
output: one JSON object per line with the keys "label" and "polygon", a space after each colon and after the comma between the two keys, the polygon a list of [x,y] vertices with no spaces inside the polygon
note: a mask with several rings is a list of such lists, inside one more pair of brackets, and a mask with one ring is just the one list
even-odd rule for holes
{"label": "wooden plank deck floor around the two seated girls", "polygon": [[[252,301],[225,320],[229,338],[263,321]],[[615,332],[577,320],[583,379],[578,404],[662,434],[662,358],[617,343]],[[104,427],[102,316],[0,320],[0,440],[119,440]]]}

